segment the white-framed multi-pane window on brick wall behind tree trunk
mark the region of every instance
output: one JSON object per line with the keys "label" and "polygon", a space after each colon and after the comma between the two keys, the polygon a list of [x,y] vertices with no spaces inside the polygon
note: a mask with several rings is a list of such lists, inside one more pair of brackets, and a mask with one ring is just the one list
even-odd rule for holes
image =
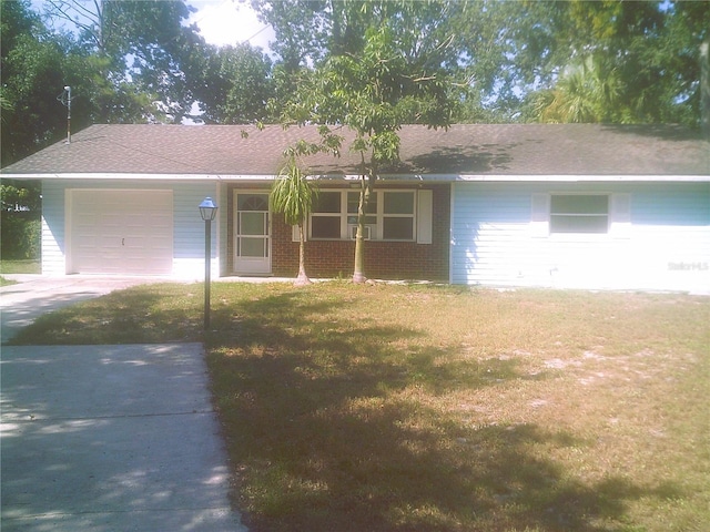
{"label": "white-framed multi-pane window on brick wall behind tree trunk", "polygon": [[[426,191],[429,194],[429,191]],[[424,196],[423,196],[424,197]],[[429,197],[429,196],[427,196]],[[321,191],[310,217],[312,239],[349,239],[357,227],[359,191]],[[430,200],[427,205],[430,205]],[[428,213],[420,213],[430,224]],[[365,217],[365,237],[413,242],[417,227],[416,191],[373,191]]]}

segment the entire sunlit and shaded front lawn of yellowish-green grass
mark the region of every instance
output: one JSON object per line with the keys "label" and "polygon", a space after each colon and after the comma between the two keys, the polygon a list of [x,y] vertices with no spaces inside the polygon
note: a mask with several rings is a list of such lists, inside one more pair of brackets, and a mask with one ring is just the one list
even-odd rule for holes
{"label": "entire sunlit and shaded front lawn of yellowish-green grass", "polygon": [[701,531],[710,298],[215,284],[114,293],[17,341],[204,340],[258,531]]}

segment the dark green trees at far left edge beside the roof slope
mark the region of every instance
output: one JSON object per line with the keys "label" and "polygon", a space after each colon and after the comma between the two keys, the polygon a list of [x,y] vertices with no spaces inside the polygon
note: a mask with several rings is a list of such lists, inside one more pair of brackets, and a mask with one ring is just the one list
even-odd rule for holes
{"label": "dark green trees at far left edge beside the roof slope", "polygon": [[[148,27],[143,29],[149,31]],[[153,29],[150,32],[160,34]],[[57,101],[65,85],[72,86],[75,99],[73,131],[95,122],[144,122],[168,115],[171,105],[154,102],[164,98],[170,103],[170,95],[158,83],[146,81],[145,69],[141,72],[133,69],[129,79],[124,63],[87,42],[70,33],[50,31],[27,1],[2,2],[3,166],[65,135],[67,111]],[[138,49],[130,47],[123,50],[138,53]],[[160,73],[153,69],[152,75],[165,80],[180,78],[164,69]]]}

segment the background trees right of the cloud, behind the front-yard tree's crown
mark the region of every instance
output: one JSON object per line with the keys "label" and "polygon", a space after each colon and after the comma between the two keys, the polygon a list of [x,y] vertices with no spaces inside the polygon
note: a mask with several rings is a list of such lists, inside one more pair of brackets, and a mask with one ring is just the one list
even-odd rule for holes
{"label": "background trees right of the cloud, behind the front-yard tree's crown", "polygon": [[[407,62],[429,58],[466,85],[465,93],[452,94],[453,122],[699,123],[699,47],[709,35],[708,2],[252,3],[274,27],[276,51],[287,65],[284,78],[329,58],[357,57],[367,29],[386,27]],[[595,96],[592,72],[598,79],[612,74],[612,98]],[[580,85],[581,73],[587,80]]]}

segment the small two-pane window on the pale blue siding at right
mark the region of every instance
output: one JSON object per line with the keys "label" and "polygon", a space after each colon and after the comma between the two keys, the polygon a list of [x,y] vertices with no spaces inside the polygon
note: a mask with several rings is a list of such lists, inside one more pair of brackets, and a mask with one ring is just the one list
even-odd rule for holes
{"label": "small two-pane window on the pale blue siding at right", "polygon": [[608,233],[608,194],[552,194],[550,233]]}

